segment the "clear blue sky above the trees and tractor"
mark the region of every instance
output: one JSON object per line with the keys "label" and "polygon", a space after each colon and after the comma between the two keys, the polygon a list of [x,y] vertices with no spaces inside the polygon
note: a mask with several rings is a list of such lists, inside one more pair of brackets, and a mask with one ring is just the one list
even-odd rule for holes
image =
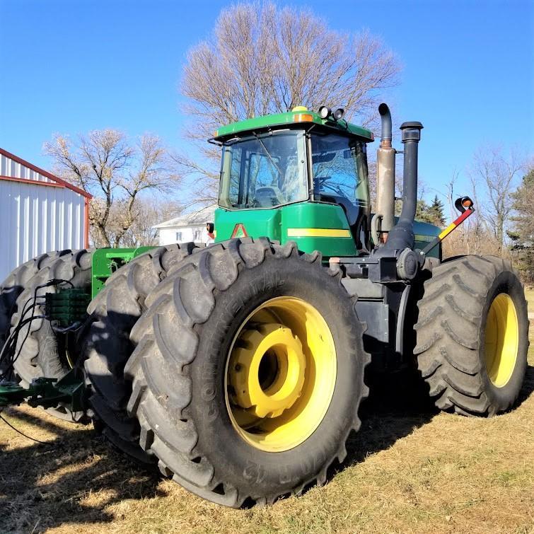
{"label": "clear blue sky above the trees and tractor", "polygon": [[[42,143],[113,127],[180,148],[187,49],[227,1],[0,0],[0,146],[50,168]],[[279,1],[368,28],[404,66],[395,120],[420,120],[421,178],[444,192],[484,144],[534,153],[534,0]],[[429,191],[429,195],[434,195]]]}

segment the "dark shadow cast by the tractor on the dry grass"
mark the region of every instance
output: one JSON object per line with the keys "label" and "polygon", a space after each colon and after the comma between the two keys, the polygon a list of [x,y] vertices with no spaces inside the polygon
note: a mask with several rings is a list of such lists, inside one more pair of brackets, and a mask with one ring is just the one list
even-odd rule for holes
{"label": "dark shadow cast by the tractor on the dry grass", "polygon": [[[518,404],[533,391],[534,366],[528,366]],[[108,507],[113,504],[166,496],[158,488],[161,476],[157,472],[141,468],[112,449],[91,426],[56,424],[45,412],[34,415],[13,409],[4,413],[9,422],[30,436],[35,425],[54,437],[46,444],[28,441],[28,446],[16,449],[8,449],[5,441],[0,441],[0,507],[4,511],[0,532],[42,532],[72,523],[111,523],[116,516]],[[371,394],[361,406],[361,429],[349,437],[347,458],[342,465],[332,466],[328,479],[348,465],[389,448],[438,413],[424,385],[412,374],[375,378]]]}

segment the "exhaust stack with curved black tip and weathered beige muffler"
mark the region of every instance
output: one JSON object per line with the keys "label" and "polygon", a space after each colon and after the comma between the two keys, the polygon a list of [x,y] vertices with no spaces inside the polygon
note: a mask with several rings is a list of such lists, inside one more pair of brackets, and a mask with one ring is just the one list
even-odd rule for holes
{"label": "exhaust stack with curved black tip and weathered beige muffler", "polygon": [[[391,113],[387,104],[378,106],[382,134],[376,151],[376,217],[380,219],[380,233],[387,233],[395,224],[395,149],[391,146]],[[378,243],[377,243],[378,244]]]}

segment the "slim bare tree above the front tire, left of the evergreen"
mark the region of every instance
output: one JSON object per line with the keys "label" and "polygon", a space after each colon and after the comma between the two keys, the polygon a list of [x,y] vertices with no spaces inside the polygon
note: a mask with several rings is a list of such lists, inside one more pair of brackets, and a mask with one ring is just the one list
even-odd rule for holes
{"label": "slim bare tree above the front tire, left of the evergreen", "polygon": [[487,147],[475,153],[469,170],[475,204],[479,208],[478,218],[487,233],[493,236],[499,255],[513,207],[513,180],[523,166],[524,161],[515,151],[506,154],[501,147]]}

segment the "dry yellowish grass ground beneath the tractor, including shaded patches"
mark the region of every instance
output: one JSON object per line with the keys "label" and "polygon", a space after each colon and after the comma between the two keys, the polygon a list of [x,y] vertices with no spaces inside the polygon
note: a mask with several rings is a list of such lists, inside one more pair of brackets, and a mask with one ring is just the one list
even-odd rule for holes
{"label": "dry yellowish grass ground beneath the tractor, including shaded patches", "polygon": [[395,381],[381,389],[325,487],[249,510],[139,470],[91,426],[6,410],[46,443],[0,421],[0,533],[534,533],[534,347],[518,407],[493,419],[435,412]]}

